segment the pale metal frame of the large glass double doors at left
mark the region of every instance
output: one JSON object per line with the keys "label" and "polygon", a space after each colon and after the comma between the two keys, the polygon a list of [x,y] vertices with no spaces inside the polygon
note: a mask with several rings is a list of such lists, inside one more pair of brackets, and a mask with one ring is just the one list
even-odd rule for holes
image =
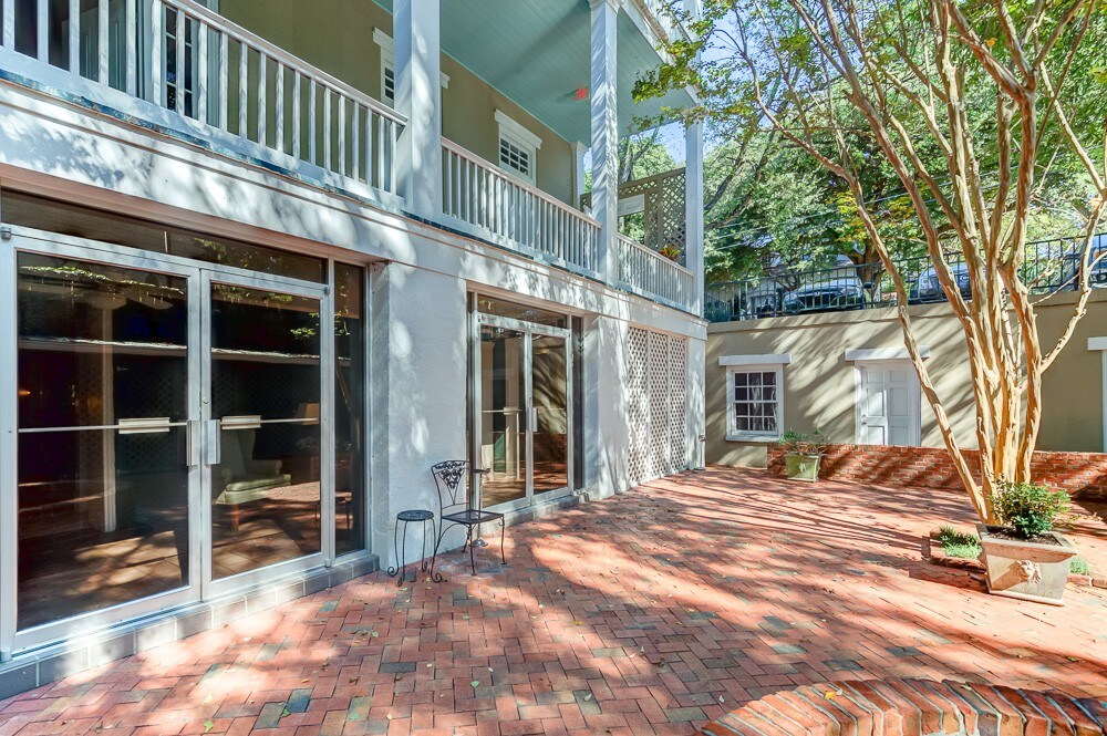
{"label": "pale metal frame of the large glass double doors at left", "polygon": [[[96,611],[17,631],[19,553],[19,470],[17,405],[18,362],[18,266],[17,255],[29,252],[120,268],[164,273],[186,280],[188,417],[184,423],[188,442],[188,584],[164,593],[128,601]],[[334,560],[334,304],[330,294],[333,261],[328,261],[327,283],[258,273],[246,269],[196,261],[179,256],[145,251],[84,238],[19,226],[6,226],[0,241],[0,662],[13,654],[72,636],[92,633],[143,615],[208,600],[231,590],[242,590]],[[321,550],[294,560],[213,581],[211,572],[211,484],[205,432],[210,404],[210,287],[228,283],[317,299],[320,304],[320,529]],[[368,299],[366,299],[368,304]],[[369,319],[365,315],[368,329]],[[366,352],[369,341],[366,340]],[[366,395],[366,402],[369,397]],[[174,426],[180,426],[175,423]],[[363,450],[364,452],[364,450]],[[366,458],[368,459],[368,458]],[[366,463],[366,474],[369,474]],[[366,494],[369,489],[366,479]],[[366,498],[366,509],[371,506]],[[368,516],[368,511],[366,511]],[[368,527],[366,527],[368,530]],[[366,533],[365,549],[369,550]]]}

